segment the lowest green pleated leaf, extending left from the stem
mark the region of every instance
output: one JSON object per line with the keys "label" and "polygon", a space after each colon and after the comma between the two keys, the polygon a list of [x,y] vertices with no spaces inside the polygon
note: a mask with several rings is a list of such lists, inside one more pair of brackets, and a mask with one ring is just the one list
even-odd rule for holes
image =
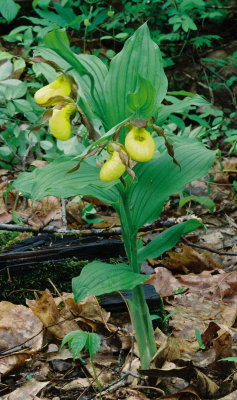
{"label": "lowest green pleated leaf, extending left from the stem", "polygon": [[149,276],[137,274],[127,264],[107,264],[93,261],[87,264],[80,276],[73,278],[75,301],[87,296],[99,296],[118,290],[129,290],[145,282]]}

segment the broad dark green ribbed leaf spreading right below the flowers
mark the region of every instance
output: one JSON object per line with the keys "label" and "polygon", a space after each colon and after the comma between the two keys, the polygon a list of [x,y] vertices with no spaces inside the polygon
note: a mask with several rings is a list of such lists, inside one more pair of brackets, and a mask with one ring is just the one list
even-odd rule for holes
{"label": "broad dark green ribbed leaf spreading right below the flowers", "polygon": [[137,184],[129,189],[135,229],[157,219],[171,194],[181,192],[187,183],[205,176],[214,162],[215,152],[207,150],[199,142],[178,143],[175,158],[181,169],[167,153],[135,167]]}

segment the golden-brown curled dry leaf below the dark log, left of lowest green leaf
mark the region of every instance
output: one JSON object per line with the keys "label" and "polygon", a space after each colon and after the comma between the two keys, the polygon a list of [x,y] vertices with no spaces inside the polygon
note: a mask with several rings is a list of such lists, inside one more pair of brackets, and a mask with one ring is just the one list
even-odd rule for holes
{"label": "golden-brown curled dry leaf below the dark log, left of lowest green leaf", "polygon": [[72,321],[74,317],[70,311],[62,316],[49,290],[43,292],[39,300],[27,300],[26,303],[57,339],[63,339],[67,333],[79,329],[77,323]]}

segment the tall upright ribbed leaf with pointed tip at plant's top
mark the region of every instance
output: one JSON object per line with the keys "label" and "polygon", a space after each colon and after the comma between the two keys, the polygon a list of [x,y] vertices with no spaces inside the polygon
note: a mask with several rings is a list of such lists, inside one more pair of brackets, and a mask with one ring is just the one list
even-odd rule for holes
{"label": "tall upright ribbed leaf with pointed tip at plant's top", "polygon": [[[144,84],[146,81],[150,82],[150,85]],[[132,94],[138,94],[140,91],[150,103],[151,87],[154,91],[153,104],[149,104],[149,110],[145,108],[145,115],[140,110],[141,118],[155,116],[157,107],[167,91],[160,50],[151,40],[147,24],[144,24],[126,41],[123,50],[111,61],[105,80],[106,128],[110,129],[131,115],[131,102],[133,105],[135,100],[141,100],[143,103],[141,96],[137,95],[134,98],[131,97]],[[143,106],[144,104],[139,106],[138,103],[138,111]]]}

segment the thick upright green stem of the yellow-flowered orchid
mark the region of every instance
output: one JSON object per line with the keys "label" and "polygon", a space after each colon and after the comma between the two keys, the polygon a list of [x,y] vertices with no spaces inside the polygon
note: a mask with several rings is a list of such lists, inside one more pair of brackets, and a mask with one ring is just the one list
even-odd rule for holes
{"label": "thick upright green stem of the yellow-flowered orchid", "polygon": [[[132,223],[126,188],[120,190],[120,195],[122,202],[120,204],[119,215],[124,246],[133,272],[139,273],[140,266],[137,262],[137,230]],[[141,285],[133,289],[132,300],[128,300],[128,305],[138,345],[141,367],[142,369],[148,369],[156,353],[156,343],[149,309]]]}

